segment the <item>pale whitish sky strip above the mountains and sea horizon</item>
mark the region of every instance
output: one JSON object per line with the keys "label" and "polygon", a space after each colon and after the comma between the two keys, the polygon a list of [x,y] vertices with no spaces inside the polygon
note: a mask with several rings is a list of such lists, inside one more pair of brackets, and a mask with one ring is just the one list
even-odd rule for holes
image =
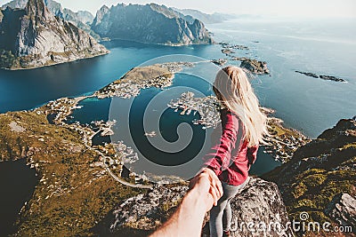
{"label": "pale whitish sky strip above the mountains and sea horizon", "polygon": [[[178,8],[192,8],[203,12],[263,14],[292,17],[356,17],[355,0],[56,0],[71,10],[87,10],[95,14],[103,4],[157,3]],[[9,0],[0,0],[0,5]]]}

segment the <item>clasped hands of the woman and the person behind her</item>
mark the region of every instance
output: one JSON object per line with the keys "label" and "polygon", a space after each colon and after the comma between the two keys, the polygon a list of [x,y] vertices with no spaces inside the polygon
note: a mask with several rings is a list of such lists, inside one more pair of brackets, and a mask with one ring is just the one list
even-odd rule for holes
{"label": "clasped hands of the woman and the person behind her", "polygon": [[223,196],[223,186],[213,170],[204,168],[190,180],[190,190],[196,190],[201,199],[206,202],[206,211],[217,205]]}

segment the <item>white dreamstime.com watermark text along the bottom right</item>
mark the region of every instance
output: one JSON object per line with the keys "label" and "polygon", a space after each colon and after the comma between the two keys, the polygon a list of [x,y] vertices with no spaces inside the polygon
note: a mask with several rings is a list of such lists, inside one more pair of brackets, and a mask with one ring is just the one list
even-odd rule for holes
{"label": "white dreamstime.com watermark text along the bottom right", "polygon": [[264,221],[250,221],[250,222],[232,222],[231,231],[249,233],[280,233],[280,236],[294,236],[292,233],[352,233],[351,225],[333,225],[332,223],[318,222],[310,220],[308,212],[301,212],[299,219],[288,221],[285,225],[280,222],[264,222]]}

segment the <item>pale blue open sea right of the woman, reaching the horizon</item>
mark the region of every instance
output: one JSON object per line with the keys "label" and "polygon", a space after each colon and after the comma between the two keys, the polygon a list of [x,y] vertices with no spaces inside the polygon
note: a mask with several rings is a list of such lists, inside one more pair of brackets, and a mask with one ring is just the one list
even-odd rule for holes
{"label": "pale blue open sea right of the woman, reaching the horizon", "polygon": [[[267,61],[271,77],[260,76],[255,91],[287,126],[315,138],[356,115],[356,20],[238,20],[208,27],[218,40],[250,46],[241,56]],[[334,75],[347,83],[295,70]]]}

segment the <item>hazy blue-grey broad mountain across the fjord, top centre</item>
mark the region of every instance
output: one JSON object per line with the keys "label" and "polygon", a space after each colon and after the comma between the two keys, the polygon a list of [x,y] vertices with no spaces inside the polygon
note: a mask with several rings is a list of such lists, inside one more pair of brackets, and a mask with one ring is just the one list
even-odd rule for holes
{"label": "hazy blue-grey broad mountain across the fjord, top centre", "polygon": [[103,6],[93,20],[92,29],[101,37],[144,43],[213,43],[201,21],[190,22],[158,4]]}

